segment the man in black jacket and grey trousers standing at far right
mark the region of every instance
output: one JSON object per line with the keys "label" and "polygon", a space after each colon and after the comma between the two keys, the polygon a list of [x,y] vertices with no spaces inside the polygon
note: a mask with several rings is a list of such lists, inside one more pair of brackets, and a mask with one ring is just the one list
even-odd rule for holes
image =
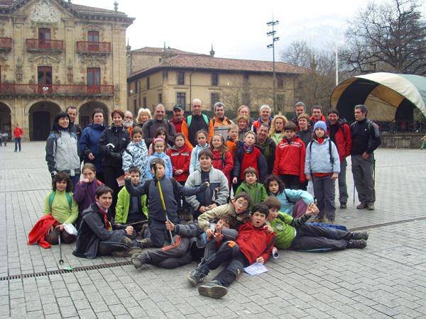
{"label": "man in black jacket and grey trousers standing at far right", "polygon": [[354,108],[355,122],[351,124],[352,135],[352,174],[358,192],[357,209],[374,210],[376,191],[374,189],[374,150],[381,144],[378,126],[367,118],[368,108],[357,105]]}

